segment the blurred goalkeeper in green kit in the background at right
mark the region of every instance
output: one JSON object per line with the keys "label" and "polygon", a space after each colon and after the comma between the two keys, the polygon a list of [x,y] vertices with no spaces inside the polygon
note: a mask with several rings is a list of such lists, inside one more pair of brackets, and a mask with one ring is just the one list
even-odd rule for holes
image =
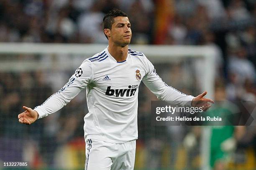
{"label": "blurred goalkeeper in green kit in the background at right", "polygon": [[[222,114],[231,115],[238,111],[238,107],[227,101],[224,84],[215,87],[215,100],[217,102],[211,110],[207,111],[212,116]],[[213,170],[226,170],[228,162],[235,152],[237,142],[245,133],[244,126],[212,126],[210,138],[210,165]]]}

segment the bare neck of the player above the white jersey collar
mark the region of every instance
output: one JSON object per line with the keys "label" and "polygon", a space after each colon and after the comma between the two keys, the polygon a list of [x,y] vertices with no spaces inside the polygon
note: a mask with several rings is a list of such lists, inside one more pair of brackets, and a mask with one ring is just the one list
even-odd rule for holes
{"label": "bare neck of the player above the white jersey collar", "polygon": [[128,45],[121,47],[114,44],[108,45],[108,52],[115,58],[117,62],[125,61],[128,55]]}

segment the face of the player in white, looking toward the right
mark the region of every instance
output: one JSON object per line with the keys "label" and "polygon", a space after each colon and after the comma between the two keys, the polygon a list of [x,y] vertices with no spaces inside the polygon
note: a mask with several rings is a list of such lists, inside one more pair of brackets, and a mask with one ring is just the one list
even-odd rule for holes
{"label": "face of the player in white, looking toward the right", "polygon": [[116,17],[110,30],[110,39],[119,46],[127,46],[131,42],[131,23],[128,17]]}

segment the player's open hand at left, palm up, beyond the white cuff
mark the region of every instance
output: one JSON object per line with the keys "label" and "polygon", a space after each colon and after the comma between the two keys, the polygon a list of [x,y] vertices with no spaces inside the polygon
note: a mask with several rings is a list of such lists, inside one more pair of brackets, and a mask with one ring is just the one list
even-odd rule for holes
{"label": "player's open hand at left, palm up, beyond the white cuff", "polygon": [[23,109],[25,109],[26,111],[18,115],[18,119],[20,123],[32,124],[37,120],[38,113],[35,110],[26,106],[23,106]]}

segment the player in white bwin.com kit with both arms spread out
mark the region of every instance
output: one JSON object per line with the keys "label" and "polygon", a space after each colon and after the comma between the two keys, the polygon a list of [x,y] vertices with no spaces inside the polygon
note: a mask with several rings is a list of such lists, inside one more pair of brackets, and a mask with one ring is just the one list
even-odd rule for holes
{"label": "player in white bwin.com kit with both arms spread out", "polygon": [[111,10],[103,18],[108,47],[84,60],[68,83],[43,104],[18,115],[31,124],[64,107],[86,88],[89,113],[84,116],[85,170],[133,170],[138,138],[138,86],[141,81],[158,99],[208,109],[207,94],[188,96],[165,84],[146,56],[128,49],[131,23],[125,13]]}

